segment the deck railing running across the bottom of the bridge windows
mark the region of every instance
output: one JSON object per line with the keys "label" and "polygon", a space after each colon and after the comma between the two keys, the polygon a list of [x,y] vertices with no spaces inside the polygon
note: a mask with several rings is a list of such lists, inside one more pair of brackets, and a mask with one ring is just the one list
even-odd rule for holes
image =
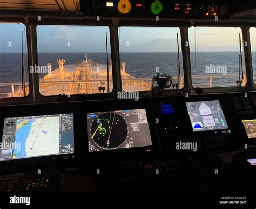
{"label": "deck railing running across the bottom of the bridge windows", "polygon": [[[256,75],[256,74],[255,74]],[[233,74],[233,75],[192,75],[192,80],[193,79],[209,79],[209,82],[203,81],[203,83],[199,83],[198,86],[200,87],[205,87],[205,88],[212,88],[213,83],[214,83],[214,78],[224,78],[224,77],[237,77],[239,78],[238,74]],[[75,83],[80,83],[82,85],[79,85],[79,89],[74,89]],[[85,83],[90,83],[93,88],[83,88]],[[177,77],[173,77],[173,83],[177,83]],[[72,94],[72,92],[83,92],[83,91],[89,91],[90,93],[98,93],[98,87],[105,86],[107,87],[107,79],[105,80],[66,80],[66,81],[39,81],[39,89],[40,93],[43,95],[53,95],[49,94],[51,90],[51,86],[56,84],[56,86],[62,86],[60,94],[63,93],[68,93]],[[150,90],[151,85],[152,85],[152,78],[127,78],[127,79],[122,79],[122,85],[125,90],[125,86],[129,86],[130,88],[136,87],[138,90]],[[179,88],[182,88],[184,85],[184,78],[183,76],[180,78],[179,82]],[[237,83],[234,82],[232,86],[236,86]],[[242,80],[241,83],[242,86],[246,85],[246,76],[244,75],[244,79]],[[29,83],[25,83],[26,86],[26,94],[28,95],[29,92]],[[50,88],[45,88],[46,86]],[[81,87],[82,86],[82,87]],[[231,86],[231,85],[230,85]],[[10,90],[5,90],[6,92],[1,92],[1,87],[9,87]],[[112,79],[110,79],[110,87],[112,87]],[[46,90],[44,90],[46,89]],[[59,90],[59,88],[58,88]],[[106,92],[106,90],[105,90]],[[73,94],[76,94],[73,93]],[[3,97],[21,97],[23,96],[23,89],[22,89],[22,82],[8,82],[8,83],[0,83],[0,96],[3,95]]]}

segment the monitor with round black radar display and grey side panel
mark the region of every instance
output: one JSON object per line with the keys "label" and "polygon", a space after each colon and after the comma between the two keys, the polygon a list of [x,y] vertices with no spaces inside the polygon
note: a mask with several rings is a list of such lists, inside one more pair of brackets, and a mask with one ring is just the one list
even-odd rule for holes
{"label": "monitor with round black radar display and grey side panel", "polygon": [[89,152],[152,145],[145,109],[88,113]]}

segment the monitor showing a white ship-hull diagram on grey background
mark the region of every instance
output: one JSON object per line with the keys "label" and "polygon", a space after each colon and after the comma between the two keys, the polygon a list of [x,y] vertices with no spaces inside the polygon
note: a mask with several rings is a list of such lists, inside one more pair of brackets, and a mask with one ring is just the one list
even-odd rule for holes
{"label": "monitor showing a white ship-hull diagram on grey background", "polygon": [[228,128],[219,100],[186,102],[193,131]]}

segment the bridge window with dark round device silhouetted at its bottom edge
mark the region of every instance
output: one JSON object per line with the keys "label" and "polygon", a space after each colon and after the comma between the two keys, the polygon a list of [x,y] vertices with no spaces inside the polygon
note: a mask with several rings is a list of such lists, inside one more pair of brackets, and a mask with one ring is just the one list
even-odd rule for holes
{"label": "bridge window with dark round device silhouetted at its bottom edge", "polygon": [[173,77],[173,86],[170,89],[182,88],[184,76],[180,43],[178,27],[120,27],[123,90],[151,90],[152,76],[157,73]]}

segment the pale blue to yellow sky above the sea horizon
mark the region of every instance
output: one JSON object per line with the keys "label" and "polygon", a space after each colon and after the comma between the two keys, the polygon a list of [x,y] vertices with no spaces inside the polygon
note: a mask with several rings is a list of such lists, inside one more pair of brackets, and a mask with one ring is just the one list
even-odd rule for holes
{"label": "pale blue to yellow sky above the sea horizon", "polygon": [[[23,24],[0,23],[0,52],[21,52],[21,31],[25,33]],[[109,27],[37,26],[38,52],[106,52],[106,32],[110,51]],[[256,29],[250,32],[254,51]],[[177,52],[177,33],[180,39],[177,27],[120,27],[120,52]],[[190,51],[195,50],[195,41],[198,52],[239,51],[240,28],[192,27],[188,33]]]}

